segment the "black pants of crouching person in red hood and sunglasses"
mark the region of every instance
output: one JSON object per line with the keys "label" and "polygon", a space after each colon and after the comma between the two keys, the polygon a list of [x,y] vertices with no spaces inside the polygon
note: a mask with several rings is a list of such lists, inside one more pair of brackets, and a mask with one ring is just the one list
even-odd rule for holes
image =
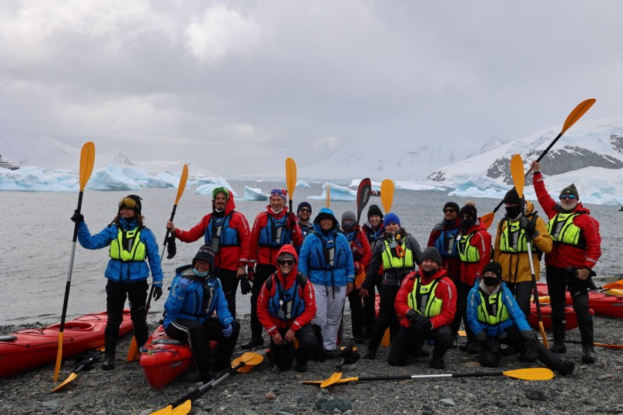
{"label": "black pants of crouching person in red hood and sunglasses", "polygon": [[[279,329],[279,333],[283,338],[288,329]],[[292,367],[292,359],[296,358],[296,362],[298,363],[307,363],[309,359],[314,356],[316,353],[316,347],[318,347],[318,342],[316,342],[316,334],[314,333],[314,329],[311,328],[311,324],[305,324],[305,326],[298,329],[298,331],[294,334],[296,340],[298,342],[298,347],[294,347],[294,343],[283,342],[280,346],[273,342],[271,338],[271,343],[269,348],[271,350],[270,360],[272,365],[277,365],[279,370],[287,370]]]}

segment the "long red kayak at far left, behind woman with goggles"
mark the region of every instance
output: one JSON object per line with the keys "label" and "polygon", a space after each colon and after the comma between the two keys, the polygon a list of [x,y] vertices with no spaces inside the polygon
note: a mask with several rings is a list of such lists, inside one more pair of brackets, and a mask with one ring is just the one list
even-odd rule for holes
{"label": "long red kayak at far left, behind woman with goggles", "polygon": [[[65,322],[63,358],[102,346],[107,317],[106,312],[85,314]],[[0,378],[55,362],[59,329],[60,324],[53,324],[44,329],[21,329],[0,335]],[[131,330],[132,320],[129,309],[126,309],[123,311],[119,335],[125,335]]]}

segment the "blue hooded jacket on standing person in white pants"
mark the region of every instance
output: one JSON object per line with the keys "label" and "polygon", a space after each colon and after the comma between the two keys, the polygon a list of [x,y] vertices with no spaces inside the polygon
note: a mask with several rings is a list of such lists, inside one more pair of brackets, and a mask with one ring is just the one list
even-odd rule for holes
{"label": "blue hooded jacket on standing person in white pants", "polygon": [[298,270],[307,275],[311,284],[345,286],[354,283],[352,250],[346,237],[338,231],[338,221],[332,210],[322,208],[318,215],[329,214],[334,228],[325,234],[320,223],[314,221],[314,233],[308,234],[300,248]]}

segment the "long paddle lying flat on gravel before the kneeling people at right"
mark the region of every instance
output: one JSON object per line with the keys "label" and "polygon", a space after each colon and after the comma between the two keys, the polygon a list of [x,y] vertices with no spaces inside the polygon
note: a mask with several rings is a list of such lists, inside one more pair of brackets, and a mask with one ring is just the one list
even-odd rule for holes
{"label": "long paddle lying flat on gravel before the kneeling people at right", "polygon": [[[417,380],[431,378],[475,378],[481,376],[508,376],[521,380],[550,380],[554,377],[554,372],[545,367],[529,367],[527,369],[515,369],[502,372],[472,372],[466,374],[432,374],[432,375],[388,375],[388,376],[359,376],[354,378],[343,378],[334,383],[341,385],[348,382],[374,382],[377,380]],[[324,380],[303,380],[305,385],[321,385]]]}

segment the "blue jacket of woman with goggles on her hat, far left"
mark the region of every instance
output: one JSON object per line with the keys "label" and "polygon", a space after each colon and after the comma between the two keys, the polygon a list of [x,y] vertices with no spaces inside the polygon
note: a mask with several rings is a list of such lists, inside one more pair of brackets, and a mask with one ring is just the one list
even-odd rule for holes
{"label": "blue jacket of woman with goggles on her hat, far left", "polygon": [[[120,218],[119,224],[121,228],[125,230],[136,230],[138,228],[138,222],[136,220],[128,223],[125,219]],[[86,222],[78,223],[78,241],[82,248],[86,249],[100,249],[110,246],[112,241],[115,241],[118,237],[119,228],[115,223],[108,225],[102,232],[91,236],[89,228]],[[143,228],[139,236],[139,240],[145,244],[145,251],[147,255],[147,261],[150,265],[141,259],[137,261],[121,261],[120,259],[110,259],[104,273],[107,279],[114,282],[138,282],[147,279],[150,276],[150,269],[152,270],[152,277],[154,279],[154,286],[162,286],[162,268],[160,266],[160,253],[158,252],[158,244],[156,243],[156,237],[154,233]]]}

